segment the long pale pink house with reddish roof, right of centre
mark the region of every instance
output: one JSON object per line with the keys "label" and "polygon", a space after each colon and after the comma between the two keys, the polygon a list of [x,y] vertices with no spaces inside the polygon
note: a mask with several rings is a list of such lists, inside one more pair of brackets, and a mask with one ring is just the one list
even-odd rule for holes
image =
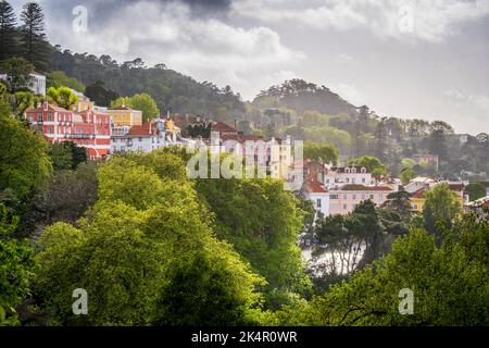
{"label": "long pale pink house with reddish roof, right of centre", "polygon": [[360,202],[365,200],[372,200],[376,206],[381,206],[387,200],[387,196],[393,191],[389,186],[347,184],[329,190],[329,212],[331,215],[344,215],[351,213]]}

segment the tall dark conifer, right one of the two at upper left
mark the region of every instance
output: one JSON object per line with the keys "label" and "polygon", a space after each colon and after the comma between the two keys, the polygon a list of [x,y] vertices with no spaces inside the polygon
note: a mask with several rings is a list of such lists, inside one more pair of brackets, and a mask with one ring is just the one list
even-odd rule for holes
{"label": "tall dark conifer, right one of the two at upper left", "polygon": [[21,13],[22,50],[23,55],[36,69],[47,69],[48,44],[45,34],[45,14],[37,2],[28,2],[23,5]]}

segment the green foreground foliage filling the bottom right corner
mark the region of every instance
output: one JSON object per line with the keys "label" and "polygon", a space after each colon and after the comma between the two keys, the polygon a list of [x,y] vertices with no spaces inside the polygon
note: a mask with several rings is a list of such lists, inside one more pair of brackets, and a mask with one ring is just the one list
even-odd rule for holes
{"label": "green foreground foliage filling the bottom right corner", "polygon": [[[441,244],[424,231],[398,238],[391,252],[285,312],[285,324],[302,325],[488,325],[489,221],[465,215]],[[399,312],[401,289],[414,295],[414,314]]]}

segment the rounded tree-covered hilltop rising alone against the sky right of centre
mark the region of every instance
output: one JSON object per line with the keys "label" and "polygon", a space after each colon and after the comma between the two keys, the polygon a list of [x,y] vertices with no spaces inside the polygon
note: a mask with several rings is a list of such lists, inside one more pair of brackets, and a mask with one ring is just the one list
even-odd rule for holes
{"label": "rounded tree-covered hilltop rising alone against the sky right of centre", "polygon": [[315,110],[330,115],[352,114],[358,109],[329,88],[318,87],[298,78],[261,91],[253,100],[253,105],[258,108],[287,108],[299,114],[306,110]]}

